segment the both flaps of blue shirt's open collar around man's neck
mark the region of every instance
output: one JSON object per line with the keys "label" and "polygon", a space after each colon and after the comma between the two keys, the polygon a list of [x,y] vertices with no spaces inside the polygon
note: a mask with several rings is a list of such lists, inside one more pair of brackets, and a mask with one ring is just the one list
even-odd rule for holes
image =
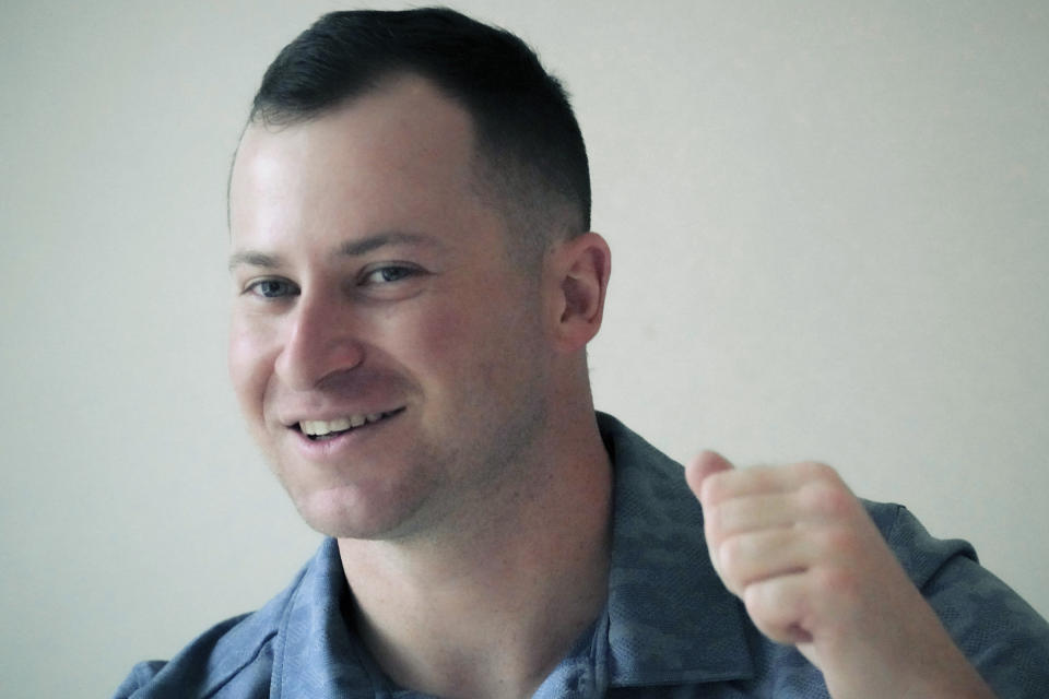
{"label": "both flaps of blue shirt's open collar around man's neck", "polygon": [[[594,671],[613,686],[753,677],[740,603],[710,565],[703,513],[681,465],[614,417],[598,413],[598,425],[614,463],[615,495],[608,619],[597,627],[608,629],[608,643],[592,647],[606,649],[606,667]],[[274,648],[274,699],[389,689],[346,628],[347,595],[339,547],[329,538],[291,590]]]}

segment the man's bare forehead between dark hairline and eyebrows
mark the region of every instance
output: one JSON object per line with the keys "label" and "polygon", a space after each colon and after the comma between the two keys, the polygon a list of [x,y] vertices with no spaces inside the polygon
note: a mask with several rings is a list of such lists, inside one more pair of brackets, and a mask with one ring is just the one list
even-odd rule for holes
{"label": "man's bare forehead between dark hairline and eyebrows", "polygon": [[485,209],[474,175],[469,115],[428,81],[400,76],[316,119],[248,127],[231,176],[231,232],[236,245],[246,235],[463,226]]}

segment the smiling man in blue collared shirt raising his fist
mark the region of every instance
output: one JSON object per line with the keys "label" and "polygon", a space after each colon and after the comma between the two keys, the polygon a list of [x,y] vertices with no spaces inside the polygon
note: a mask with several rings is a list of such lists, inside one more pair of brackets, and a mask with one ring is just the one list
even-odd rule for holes
{"label": "smiling man in blue collared shirt raising his fist", "polygon": [[594,413],[589,215],[516,37],[344,12],[282,51],[231,176],[229,364],[330,538],[118,697],[1041,696],[1049,627],[964,543]]}

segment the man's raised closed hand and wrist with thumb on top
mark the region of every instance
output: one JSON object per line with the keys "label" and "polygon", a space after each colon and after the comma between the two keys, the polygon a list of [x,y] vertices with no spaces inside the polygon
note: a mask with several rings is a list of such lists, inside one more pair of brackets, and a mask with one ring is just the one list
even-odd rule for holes
{"label": "man's raised closed hand and wrist with thumb on top", "polygon": [[707,451],[685,476],[726,587],[835,699],[993,697],[833,469],[735,470]]}

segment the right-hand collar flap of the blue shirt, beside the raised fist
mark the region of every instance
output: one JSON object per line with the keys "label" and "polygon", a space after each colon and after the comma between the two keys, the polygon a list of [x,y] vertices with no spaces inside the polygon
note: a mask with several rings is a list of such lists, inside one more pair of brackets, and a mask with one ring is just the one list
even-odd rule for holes
{"label": "right-hand collar flap of the blue shirt, beside the raised fist", "polygon": [[684,470],[615,418],[598,425],[615,464],[610,683],[753,677],[744,614],[710,565]]}

